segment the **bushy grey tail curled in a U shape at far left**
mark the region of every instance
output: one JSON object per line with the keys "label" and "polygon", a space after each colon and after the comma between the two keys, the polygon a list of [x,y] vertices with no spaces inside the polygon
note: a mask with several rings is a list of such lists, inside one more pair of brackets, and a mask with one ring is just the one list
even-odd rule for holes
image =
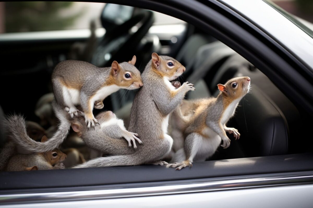
{"label": "bushy grey tail curled in a U shape at far left", "polygon": [[48,141],[41,143],[30,138],[27,135],[25,119],[22,115],[16,114],[7,117],[4,121],[4,126],[9,138],[30,152],[47,152],[58,148],[69,133],[71,124],[67,119],[66,112],[56,104],[55,100],[52,106],[60,123],[57,132],[54,133],[53,137],[49,138]]}

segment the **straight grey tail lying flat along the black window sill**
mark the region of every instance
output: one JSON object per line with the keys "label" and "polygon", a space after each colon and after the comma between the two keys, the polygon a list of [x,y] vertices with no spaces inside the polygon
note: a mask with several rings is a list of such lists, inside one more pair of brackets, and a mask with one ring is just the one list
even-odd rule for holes
{"label": "straight grey tail lying flat along the black window sill", "polygon": [[91,159],[83,164],[74,166],[73,168],[83,167],[110,167],[110,166],[127,166],[140,165],[139,159],[134,155],[115,155],[109,157],[98,157]]}

